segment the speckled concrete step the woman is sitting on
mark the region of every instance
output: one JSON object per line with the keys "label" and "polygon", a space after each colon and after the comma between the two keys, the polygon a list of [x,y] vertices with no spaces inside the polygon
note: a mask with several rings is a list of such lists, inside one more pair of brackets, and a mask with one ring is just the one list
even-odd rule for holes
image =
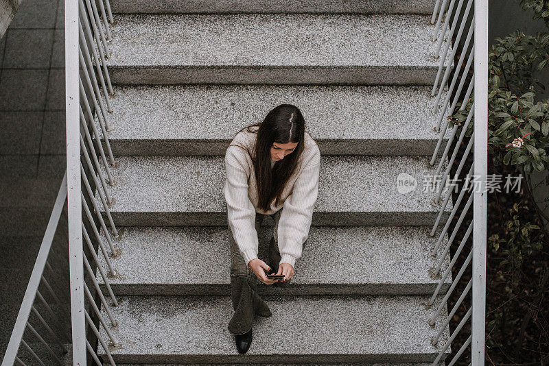
{"label": "speckled concrete step the woman is sitting on", "polygon": [[[115,160],[116,184],[110,192],[116,202],[110,212],[117,225],[227,224],[222,156]],[[324,156],[312,225],[432,225],[440,205],[433,204],[434,193],[423,188],[423,181],[433,174],[423,157]],[[406,194],[397,188],[397,178],[402,180],[403,175],[407,182],[417,182],[415,190]]]}

